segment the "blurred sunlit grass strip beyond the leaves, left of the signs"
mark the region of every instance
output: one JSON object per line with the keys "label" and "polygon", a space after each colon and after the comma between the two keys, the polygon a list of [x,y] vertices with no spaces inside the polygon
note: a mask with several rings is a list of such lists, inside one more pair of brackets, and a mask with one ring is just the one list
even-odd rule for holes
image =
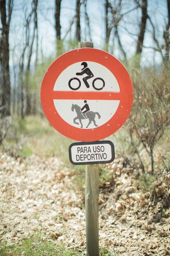
{"label": "blurred sunlit grass strip beyond the leaves, left of the signs", "polygon": [[0,149],[15,150],[23,157],[32,154],[40,157],[58,157],[68,164],[68,148],[71,143],[72,140],[57,132],[45,117],[13,117],[10,131]]}

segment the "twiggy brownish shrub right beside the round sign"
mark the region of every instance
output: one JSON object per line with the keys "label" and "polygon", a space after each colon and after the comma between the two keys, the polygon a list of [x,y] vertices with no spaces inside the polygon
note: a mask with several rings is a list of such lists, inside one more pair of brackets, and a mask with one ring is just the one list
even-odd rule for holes
{"label": "twiggy brownish shrub right beside the round sign", "polygon": [[125,125],[129,143],[126,155],[135,165],[138,160],[138,167],[145,173],[147,154],[154,174],[155,146],[170,127],[170,70],[168,66],[134,68],[131,73],[134,101]]}

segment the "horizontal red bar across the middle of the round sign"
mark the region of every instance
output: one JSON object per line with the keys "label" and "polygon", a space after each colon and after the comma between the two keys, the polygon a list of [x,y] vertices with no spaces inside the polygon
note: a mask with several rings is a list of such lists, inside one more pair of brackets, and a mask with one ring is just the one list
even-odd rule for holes
{"label": "horizontal red bar across the middle of the round sign", "polygon": [[53,99],[89,99],[89,100],[121,100],[120,92],[71,92],[53,91]]}

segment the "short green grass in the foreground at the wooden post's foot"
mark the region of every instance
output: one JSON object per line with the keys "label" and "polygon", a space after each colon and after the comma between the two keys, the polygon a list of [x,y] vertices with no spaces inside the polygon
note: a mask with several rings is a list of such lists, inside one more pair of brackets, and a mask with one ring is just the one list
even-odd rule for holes
{"label": "short green grass in the foreground at the wooden post's foot", "polygon": [[[0,256],[80,256],[82,251],[65,248],[64,244],[55,245],[48,240],[42,240],[40,235],[24,239],[21,244],[7,246],[0,244]],[[99,249],[100,256],[117,256],[106,248]]]}

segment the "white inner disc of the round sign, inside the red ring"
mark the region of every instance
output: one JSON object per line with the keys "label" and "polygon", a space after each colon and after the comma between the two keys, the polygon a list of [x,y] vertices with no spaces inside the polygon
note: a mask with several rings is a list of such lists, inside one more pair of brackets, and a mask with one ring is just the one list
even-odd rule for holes
{"label": "white inner disc of the round sign, inside the red ring", "polygon": [[[110,99],[111,92],[120,92],[115,76],[105,66],[92,61],[77,62],[64,69],[55,81],[53,91],[77,95],[77,99],[66,97],[53,102],[65,122],[82,129],[94,129],[108,122],[120,103],[118,99]],[[79,96],[78,92],[83,94]]]}

